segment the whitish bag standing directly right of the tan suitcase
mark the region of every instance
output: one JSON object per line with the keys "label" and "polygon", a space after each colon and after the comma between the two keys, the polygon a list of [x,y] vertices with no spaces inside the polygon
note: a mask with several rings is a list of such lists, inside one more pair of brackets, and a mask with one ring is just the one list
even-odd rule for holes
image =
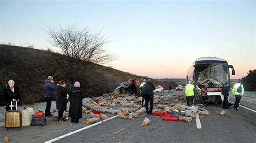
{"label": "whitish bag standing directly right of the tan suitcase", "polygon": [[22,126],[30,126],[33,114],[35,114],[33,108],[24,108],[22,110]]}

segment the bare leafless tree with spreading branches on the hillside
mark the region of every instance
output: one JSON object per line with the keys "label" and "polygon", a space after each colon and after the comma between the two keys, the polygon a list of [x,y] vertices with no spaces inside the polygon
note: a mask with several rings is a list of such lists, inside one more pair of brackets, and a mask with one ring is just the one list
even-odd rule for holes
{"label": "bare leafless tree with spreading branches on the hillside", "polygon": [[50,28],[46,32],[50,36],[50,44],[60,48],[66,55],[63,60],[67,61],[73,74],[85,74],[96,64],[104,64],[115,59],[104,50],[107,38],[100,32],[92,34],[86,28],[79,30],[76,26],[59,26],[56,30]]}

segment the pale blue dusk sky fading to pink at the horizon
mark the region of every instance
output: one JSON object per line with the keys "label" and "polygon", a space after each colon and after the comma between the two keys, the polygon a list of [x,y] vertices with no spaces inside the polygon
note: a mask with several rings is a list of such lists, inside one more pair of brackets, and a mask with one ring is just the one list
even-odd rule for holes
{"label": "pale blue dusk sky fading to pink at the horizon", "polygon": [[0,1],[1,44],[52,48],[45,31],[77,25],[109,37],[105,66],[131,74],[185,78],[203,56],[226,59],[231,78],[256,69],[255,1]]}

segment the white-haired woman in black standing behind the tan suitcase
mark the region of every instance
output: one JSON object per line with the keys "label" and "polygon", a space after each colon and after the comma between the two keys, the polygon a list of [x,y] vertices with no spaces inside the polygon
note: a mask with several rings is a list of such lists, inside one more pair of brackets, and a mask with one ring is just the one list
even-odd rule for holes
{"label": "white-haired woman in black standing behind the tan suitcase", "polygon": [[3,103],[5,106],[5,110],[11,110],[10,104],[12,102],[19,101],[21,99],[21,95],[19,95],[19,88],[15,85],[14,80],[9,80],[8,84],[5,85],[3,90]]}

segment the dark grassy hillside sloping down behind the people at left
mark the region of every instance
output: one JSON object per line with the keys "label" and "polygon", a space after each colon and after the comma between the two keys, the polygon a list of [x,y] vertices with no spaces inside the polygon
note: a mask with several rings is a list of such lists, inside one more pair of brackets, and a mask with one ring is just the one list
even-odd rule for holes
{"label": "dark grassy hillside sloping down behind the people at left", "polygon": [[[0,99],[2,100],[2,89],[10,79],[15,80],[15,84],[21,89],[22,103],[43,101],[43,82],[49,75],[53,76],[55,83],[65,80],[70,89],[75,81],[71,81],[70,75],[56,62],[56,59],[62,59],[62,56],[64,55],[50,51],[0,45]],[[90,97],[112,92],[120,82],[130,78],[145,77],[96,65],[93,70],[83,75],[80,83],[83,92]],[[156,80],[152,82],[162,85],[165,89],[168,87],[166,83]]]}

